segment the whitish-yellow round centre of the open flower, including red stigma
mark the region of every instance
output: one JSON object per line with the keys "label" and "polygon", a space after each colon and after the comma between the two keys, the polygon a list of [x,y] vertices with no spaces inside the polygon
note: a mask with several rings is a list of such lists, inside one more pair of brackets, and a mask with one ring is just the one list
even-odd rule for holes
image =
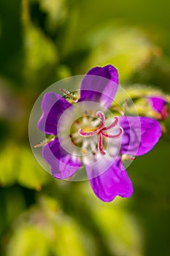
{"label": "whitish-yellow round centre of the open flower, including red stigma", "polygon": [[[107,114],[112,117],[105,118]],[[107,159],[103,161],[107,166],[108,161],[114,162],[120,152],[122,135],[119,118],[97,102],[78,102],[58,121],[61,146],[68,154],[81,157],[84,165],[91,165],[101,158]]]}

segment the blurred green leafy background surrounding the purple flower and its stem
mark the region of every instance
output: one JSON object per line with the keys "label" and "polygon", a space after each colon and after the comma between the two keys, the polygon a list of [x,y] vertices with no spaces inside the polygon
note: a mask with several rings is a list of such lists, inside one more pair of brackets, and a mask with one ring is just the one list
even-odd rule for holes
{"label": "blurred green leafy background surrounding the purple flower and its stem", "polygon": [[169,93],[169,9],[168,0],[0,1],[0,255],[170,255],[169,134],[128,167],[134,195],[112,203],[88,181],[52,178],[28,143],[39,94],[91,67],[112,64],[120,83]]}

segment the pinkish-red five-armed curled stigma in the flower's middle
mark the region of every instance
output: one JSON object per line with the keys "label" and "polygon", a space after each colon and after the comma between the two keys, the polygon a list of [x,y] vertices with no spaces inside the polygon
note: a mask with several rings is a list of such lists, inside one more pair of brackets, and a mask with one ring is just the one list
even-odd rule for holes
{"label": "pinkish-red five-armed curled stigma in the flower's middle", "polygon": [[105,127],[105,116],[104,113],[101,111],[96,112],[96,116],[101,119],[101,123],[98,128],[92,129],[90,131],[82,130],[79,129],[79,135],[82,137],[90,137],[93,135],[98,135],[98,151],[100,154],[104,155],[106,152],[104,151],[104,146],[103,146],[103,137],[105,138],[112,138],[112,139],[117,139],[120,138],[123,135],[123,128],[119,127],[119,132],[116,135],[109,135],[107,133],[107,130],[112,129],[119,123],[119,118],[115,116],[115,120],[110,124],[109,126]]}

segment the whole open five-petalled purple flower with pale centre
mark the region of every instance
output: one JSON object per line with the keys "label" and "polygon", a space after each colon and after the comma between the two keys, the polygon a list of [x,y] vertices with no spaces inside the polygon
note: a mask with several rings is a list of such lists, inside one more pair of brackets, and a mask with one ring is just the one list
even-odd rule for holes
{"label": "whole open five-petalled purple flower with pale centre", "polygon": [[122,155],[146,154],[161,137],[155,119],[107,113],[117,87],[115,67],[94,67],[82,79],[75,104],[54,92],[45,94],[38,123],[42,132],[53,135],[42,148],[52,175],[69,178],[84,165],[93,191],[106,202],[133,193]]}

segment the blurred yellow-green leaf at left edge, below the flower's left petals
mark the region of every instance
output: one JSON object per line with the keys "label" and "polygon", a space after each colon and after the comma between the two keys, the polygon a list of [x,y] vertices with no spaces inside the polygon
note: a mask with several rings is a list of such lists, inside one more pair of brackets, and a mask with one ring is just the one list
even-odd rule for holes
{"label": "blurred yellow-green leaf at left edge, below the flower's left petals", "polygon": [[40,190],[42,185],[47,184],[50,176],[42,170],[26,146],[16,146],[10,143],[5,146],[0,155],[1,186],[18,184],[31,189]]}

